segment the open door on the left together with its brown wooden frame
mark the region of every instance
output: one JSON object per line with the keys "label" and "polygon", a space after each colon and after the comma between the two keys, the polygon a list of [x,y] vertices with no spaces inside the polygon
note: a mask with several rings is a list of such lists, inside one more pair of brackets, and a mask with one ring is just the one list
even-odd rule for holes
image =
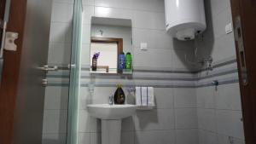
{"label": "open door on the left together with its brown wooden frame", "polygon": [[[4,51],[0,89],[0,143],[42,142],[44,87],[52,0],[12,0],[8,32],[17,51]],[[1,9],[2,10],[2,9]]]}

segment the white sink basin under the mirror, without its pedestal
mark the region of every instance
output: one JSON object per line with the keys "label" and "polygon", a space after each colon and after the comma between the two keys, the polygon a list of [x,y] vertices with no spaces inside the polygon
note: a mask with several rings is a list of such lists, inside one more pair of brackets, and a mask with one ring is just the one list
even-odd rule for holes
{"label": "white sink basin under the mirror, without its pedestal", "polygon": [[101,119],[121,119],[130,117],[136,112],[135,105],[109,105],[109,104],[92,104],[88,105],[88,112],[92,117]]}

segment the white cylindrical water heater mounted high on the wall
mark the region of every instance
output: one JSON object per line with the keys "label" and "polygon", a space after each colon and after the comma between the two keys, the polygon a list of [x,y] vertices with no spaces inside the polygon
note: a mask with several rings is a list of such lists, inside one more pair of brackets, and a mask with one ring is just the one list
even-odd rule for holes
{"label": "white cylindrical water heater mounted high on the wall", "polygon": [[204,0],[165,0],[166,31],[179,40],[191,40],[206,30]]}

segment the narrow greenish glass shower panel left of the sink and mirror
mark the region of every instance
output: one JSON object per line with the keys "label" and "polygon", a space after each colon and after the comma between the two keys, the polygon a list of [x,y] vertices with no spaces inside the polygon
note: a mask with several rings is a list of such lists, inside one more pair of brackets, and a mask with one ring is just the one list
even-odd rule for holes
{"label": "narrow greenish glass shower panel left of the sink and mirror", "polygon": [[80,78],[80,48],[82,32],[82,0],[74,0],[73,38],[70,65],[70,85],[68,98],[67,144],[78,142],[78,112],[79,112],[79,78]]}

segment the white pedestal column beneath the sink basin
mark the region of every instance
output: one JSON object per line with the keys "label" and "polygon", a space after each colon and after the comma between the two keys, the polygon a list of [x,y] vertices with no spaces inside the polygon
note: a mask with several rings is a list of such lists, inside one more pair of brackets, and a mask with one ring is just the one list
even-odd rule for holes
{"label": "white pedestal column beneath the sink basin", "polygon": [[121,119],[102,119],[102,144],[121,143]]}

